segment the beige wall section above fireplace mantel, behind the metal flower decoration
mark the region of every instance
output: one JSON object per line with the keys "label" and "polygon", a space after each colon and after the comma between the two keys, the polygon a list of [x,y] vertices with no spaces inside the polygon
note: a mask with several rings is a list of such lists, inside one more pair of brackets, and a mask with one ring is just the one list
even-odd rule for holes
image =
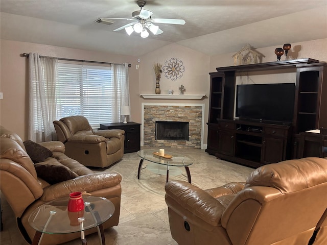
{"label": "beige wall section above fireplace mantel, behind the metal flower decoration", "polygon": [[[210,90],[209,84],[209,60],[210,57],[183,47],[178,44],[170,44],[158,50],[144,55],[139,62],[139,93],[152,94],[155,93],[155,74],[153,70],[154,63],[165,65],[166,60],[176,58],[183,62],[185,71],[180,79],[172,81],[165,77],[164,72],[161,74],[160,89],[161,94],[168,94],[168,89],[173,89],[174,94],[179,94],[179,87],[182,84],[185,87],[184,94],[206,94],[208,96]],[[205,122],[208,118],[209,99],[205,97],[203,100],[150,100],[140,97],[139,106],[142,103],[178,103],[178,104],[205,104],[204,118]],[[204,127],[204,140],[206,144],[207,127]]]}

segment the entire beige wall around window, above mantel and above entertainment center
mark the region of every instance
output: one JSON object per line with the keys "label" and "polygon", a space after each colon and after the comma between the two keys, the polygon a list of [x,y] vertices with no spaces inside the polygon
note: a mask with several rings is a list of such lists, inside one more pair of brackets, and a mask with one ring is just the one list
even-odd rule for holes
{"label": "entire beige wall around window, above mantel and above entertainment center", "polygon": [[[282,46],[283,44],[281,44]],[[190,48],[178,44],[170,44],[158,50],[144,55],[143,57],[113,55],[74,48],[64,48],[35,43],[1,40],[1,81],[0,91],[4,93],[4,99],[0,100],[0,123],[1,125],[17,132],[23,139],[27,139],[28,124],[28,60],[21,58],[22,53],[39,53],[44,56],[62,58],[95,60],[113,63],[130,63],[129,85],[131,96],[131,120],[141,123],[141,104],[151,103],[204,103],[205,118],[208,118],[208,98],[198,100],[145,100],[139,96],[141,93],[154,93],[155,75],[154,63],[164,64],[167,59],[173,57],[183,61],[185,71],[183,76],[176,81],[161,76],[161,93],[167,93],[167,89],[173,89],[174,94],[179,93],[178,87],[185,86],[185,94],[209,94],[208,72],[216,71],[216,67],[231,66],[235,53],[215,55],[209,57]],[[257,51],[265,57],[263,62],[276,61],[274,47],[259,48]],[[291,58],[313,58],[327,61],[327,39],[319,39],[301,43],[292,43]],[[141,59],[137,62],[137,58]],[[285,57],[282,58],[282,60]],[[139,69],[136,69],[136,64]],[[206,121],[207,119],[205,119]],[[207,139],[207,127],[204,130],[204,143]]]}

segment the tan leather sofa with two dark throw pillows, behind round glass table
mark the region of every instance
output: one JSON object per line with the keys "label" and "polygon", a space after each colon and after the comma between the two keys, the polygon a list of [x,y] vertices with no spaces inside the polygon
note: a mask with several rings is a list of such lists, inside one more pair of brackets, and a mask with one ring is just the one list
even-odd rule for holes
{"label": "tan leather sofa with two dark throw pillows, behind round glass table", "polygon": [[[117,226],[120,216],[121,180],[118,173],[94,173],[65,154],[65,146],[60,141],[40,143],[52,151],[52,157],[37,164],[62,164],[77,174],[56,184],[50,184],[37,176],[35,165],[27,152],[21,138],[7,130],[0,128],[0,178],[1,192],[15,213],[17,225],[21,234],[30,242],[35,230],[29,225],[31,212],[40,205],[63,197],[68,197],[74,191],[88,192],[91,195],[110,200],[115,211],[112,217],[103,224],[104,229]],[[6,224],[4,224],[6,226]],[[97,232],[96,228],[86,231],[86,234]],[[79,232],[70,234],[44,234],[42,245],[60,244],[80,237]]]}

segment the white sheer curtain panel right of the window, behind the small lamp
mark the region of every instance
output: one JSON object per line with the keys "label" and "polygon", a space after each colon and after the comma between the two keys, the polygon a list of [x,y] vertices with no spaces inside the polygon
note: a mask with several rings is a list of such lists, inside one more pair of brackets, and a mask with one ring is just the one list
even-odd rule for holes
{"label": "white sheer curtain panel right of the window, behind the small lamp", "polygon": [[[130,106],[129,104],[129,83],[128,83],[128,64],[114,65],[111,64],[112,81],[114,84],[115,94],[111,101],[114,108],[113,121],[123,121],[124,116],[120,114],[122,106]],[[131,117],[129,117],[131,120]]]}

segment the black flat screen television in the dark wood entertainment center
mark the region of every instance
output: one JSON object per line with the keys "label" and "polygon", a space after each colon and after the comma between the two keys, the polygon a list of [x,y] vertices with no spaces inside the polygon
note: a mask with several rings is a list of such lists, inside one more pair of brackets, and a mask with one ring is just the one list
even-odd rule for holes
{"label": "black flat screen television in the dark wood entertainment center", "polygon": [[290,124],[294,113],[294,83],[237,85],[236,116]]}

